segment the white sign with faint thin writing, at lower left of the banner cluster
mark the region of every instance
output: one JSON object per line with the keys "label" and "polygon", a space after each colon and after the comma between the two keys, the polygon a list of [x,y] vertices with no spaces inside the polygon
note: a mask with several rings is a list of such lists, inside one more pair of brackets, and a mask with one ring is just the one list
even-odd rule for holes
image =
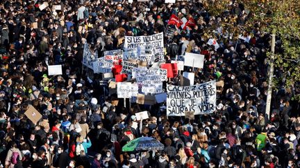
{"label": "white sign with faint thin writing, at lower left of the banner cluster", "polygon": [[117,97],[130,98],[138,96],[138,84],[131,84],[131,82],[117,83]]}

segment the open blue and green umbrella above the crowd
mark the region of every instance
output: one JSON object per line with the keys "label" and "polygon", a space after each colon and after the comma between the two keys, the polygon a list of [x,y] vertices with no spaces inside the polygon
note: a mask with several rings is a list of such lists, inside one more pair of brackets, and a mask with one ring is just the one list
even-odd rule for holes
{"label": "open blue and green umbrella above the crowd", "polygon": [[140,137],[129,141],[122,147],[122,151],[149,151],[163,150],[164,145],[158,140],[150,137]]}

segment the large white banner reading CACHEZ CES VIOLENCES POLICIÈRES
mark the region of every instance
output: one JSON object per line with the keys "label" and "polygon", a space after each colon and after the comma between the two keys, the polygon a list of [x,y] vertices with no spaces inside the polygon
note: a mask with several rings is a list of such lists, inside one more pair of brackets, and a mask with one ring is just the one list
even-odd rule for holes
{"label": "large white banner reading CACHEZ CES VIOLENCES POLICI\u00c8RES", "polygon": [[195,115],[213,113],[216,109],[216,82],[192,86],[167,85],[167,115],[183,116],[185,111]]}

